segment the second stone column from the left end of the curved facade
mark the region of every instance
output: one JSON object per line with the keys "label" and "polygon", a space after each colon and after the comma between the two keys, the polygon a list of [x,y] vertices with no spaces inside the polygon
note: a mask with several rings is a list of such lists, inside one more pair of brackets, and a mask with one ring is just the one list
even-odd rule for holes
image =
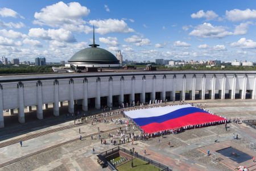
{"label": "second stone column from the left end of the curved facade", "polygon": [[25,115],[24,115],[24,94],[23,94],[23,83],[19,82],[17,84],[18,88],[18,120],[19,123],[25,123]]}

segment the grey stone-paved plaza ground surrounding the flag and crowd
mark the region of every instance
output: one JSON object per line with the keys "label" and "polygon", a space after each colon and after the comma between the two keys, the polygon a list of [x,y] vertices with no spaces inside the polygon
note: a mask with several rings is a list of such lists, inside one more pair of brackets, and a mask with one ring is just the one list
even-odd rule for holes
{"label": "grey stone-paved plaza ground surrounding the flag and crowd", "polygon": [[[120,146],[126,149],[134,147],[140,155],[146,149],[148,159],[160,162],[172,170],[235,170],[240,165],[256,170],[256,162],[252,159],[238,163],[216,152],[233,147],[249,156],[256,156],[256,147],[251,148],[253,144],[256,145],[256,130],[242,123],[242,120],[256,119],[255,100],[209,99],[185,102],[195,106],[198,103],[214,114],[231,118],[232,122],[228,124],[227,130],[225,124],[220,124],[186,130],[176,135],[137,140],[134,145],[130,142]],[[32,112],[35,110],[32,109]],[[93,110],[90,114],[99,112],[101,111]],[[24,124],[17,122],[1,128],[0,170],[109,170],[97,163],[97,154],[114,148],[109,134],[117,134],[119,127],[125,129],[125,124],[114,124],[108,117],[106,123],[93,122],[92,125],[88,121],[74,124],[67,113],[68,106],[64,104],[58,118],[49,114],[46,119],[36,120],[30,119],[28,115]],[[116,118],[125,120],[122,116],[113,116],[113,119]],[[240,118],[240,123],[233,123],[234,118]],[[98,127],[106,144],[101,144],[98,139]],[[133,126],[128,128],[127,134],[129,132],[133,132]],[[134,133],[138,134],[136,128]],[[238,134],[238,139],[234,139],[233,134]],[[80,135],[82,140],[79,140]],[[23,147],[19,144],[21,139]],[[168,147],[169,141],[171,147]],[[95,155],[92,154],[93,148]],[[207,156],[208,150],[210,156]]]}

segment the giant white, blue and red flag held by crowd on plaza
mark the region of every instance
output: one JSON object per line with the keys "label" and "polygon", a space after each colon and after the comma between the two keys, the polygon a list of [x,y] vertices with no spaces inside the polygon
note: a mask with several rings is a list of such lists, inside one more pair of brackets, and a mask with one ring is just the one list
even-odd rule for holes
{"label": "giant white, blue and red flag held by crowd on plaza", "polygon": [[225,118],[210,114],[191,105],[154,107],[125,111],[145,133],[171,130],[213,122],[224,123]]}

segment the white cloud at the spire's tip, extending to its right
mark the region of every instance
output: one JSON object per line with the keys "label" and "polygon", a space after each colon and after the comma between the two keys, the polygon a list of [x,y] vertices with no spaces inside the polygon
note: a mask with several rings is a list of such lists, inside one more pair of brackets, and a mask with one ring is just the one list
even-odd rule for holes
{"label": "white cloud at the spire's tip, extending to its right", "polygon": [[99,34],[108,34],[110,32],[134,32],[132,28],[127,26],[127,23],[124,20],[118,19],[105,19],[105,20],[90,20],[91,25],[94,24],[96,27],[95,32]]}

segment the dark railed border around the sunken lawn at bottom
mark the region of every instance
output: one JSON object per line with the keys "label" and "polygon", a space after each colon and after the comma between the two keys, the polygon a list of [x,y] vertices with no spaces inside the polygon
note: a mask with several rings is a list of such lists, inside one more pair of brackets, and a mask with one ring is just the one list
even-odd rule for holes
{"label": "dark railed border around the sunken lawn at bottom", "polygon": [[134,153],[131,149],[125,149],[122,147],[115,147],[112,149],[109,149],[108,151],[102,152],[100,153],[100,155],[97,155],[98,157],[98,164],[102,165],[102,168],[108,166],[108,168],[110,170],[118,170],[117,168],[115,168],[115,166],[109,162],[108,160],[110,158],[115,158],[118,157],[120,155],[120,153],[122,153],[123,156],[126,156],[128,159],[131,160],[131,155],[134,154],[134,157],[137,157],[138,159],[141,159],[143,161],[148,162],[148,164],[152,164],[154,166],[157,166],[158,168],[162,169],[161,171],[172,171],[170,168],[168,168],[168,166],[160,164],[160,162],[156,162],[154,160],[148,159],[147,157],[141,156],[138,153]]}

